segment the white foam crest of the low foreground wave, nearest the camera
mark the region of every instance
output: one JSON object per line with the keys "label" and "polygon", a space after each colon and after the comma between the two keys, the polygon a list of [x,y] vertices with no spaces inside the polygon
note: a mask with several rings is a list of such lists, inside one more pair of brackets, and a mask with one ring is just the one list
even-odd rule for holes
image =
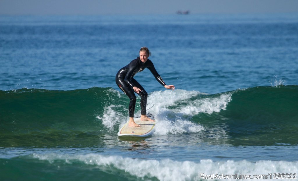
{"label": "white foam crest of the low foreground wave, nearest the camera", "polygon": [[[298,173],[298,162],[288,161],[270,161],[261,160],[257,162],[249,162],[246,160],[241,161],[212,161],[201,160],[200,163],[192,161],[173,161],[170,159],[164,160],[144,160],[133,159],[120,156],[104,156],[99,154],[87,154],[87,155],[59,155],[59,154],[33,154],[32,157],[39,160],[48,160],[49,163],[55,163],[55,161],[64,161],[66,164],[72,164],[72,162],[83,162],[87,165],[99,166],[97,168],[102,169],[119,169],[123,170],[140,179],[144,177],[153,178],[156,177],[161,181],[184,181],[184,180],[202,180],[204,175],[221,174],[232,176],[235,179],[218,179],[210,178],[206,180],[253,180],[253,179],[237,179],[235,174],[240,175],[266,175],[271,174],[271,178],[263,178],[258,180],[276,180],[273,178],[274,174],[293,174]],[[297,176],[296,176],[297,177]],[[256,179],[255,179],[256,180]],[[279,179],[287,180],[287,179]],[[291,180],[291,179],[289,179]],[[293,179],[292,179],[293,180]]]}

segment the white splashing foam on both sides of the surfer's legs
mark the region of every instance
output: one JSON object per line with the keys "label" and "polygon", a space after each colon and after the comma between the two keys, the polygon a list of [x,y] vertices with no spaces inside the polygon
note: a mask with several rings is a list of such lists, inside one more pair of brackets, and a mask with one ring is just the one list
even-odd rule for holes
{"label": "white splashing foam on both sides of the surfer's legs", "polygon": [[[190,121],[190,118],[198,113],[220,112],[225,110],[228,102],[231,101],[232,93],[221,94],[214,98],[191,98],[198,95],[206,95],[198,91],[155,91],[148,96],[147,112],[154,115],[156,127],[154,135],[193,133],[204,130],[204,127],[198,123]],[[177,103],[183,103],[177,106]],[[128,120],[127,116],[116,111],[116,107],[120,105],[110,105],[105,107],[103,116],[97,116],[102,120],[103,125],[114,130],[115,125],[122,127]],[[137,105],[138,106],[138,105]],[[122,109],[127,109],[122,106]],[[137,111],[135,115],[138,115]]]}

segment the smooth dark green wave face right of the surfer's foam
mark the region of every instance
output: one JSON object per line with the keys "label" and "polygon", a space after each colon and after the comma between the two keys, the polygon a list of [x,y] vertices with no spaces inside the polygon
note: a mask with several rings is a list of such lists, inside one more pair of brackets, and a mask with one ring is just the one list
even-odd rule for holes
{"label": "smooth dark green wave face right of the surfer's foam", "polygon": [[199,113],[192,120],[232,138],[233,144],[298,144],[298,86],[254,87],[231,93],[226,110]]}

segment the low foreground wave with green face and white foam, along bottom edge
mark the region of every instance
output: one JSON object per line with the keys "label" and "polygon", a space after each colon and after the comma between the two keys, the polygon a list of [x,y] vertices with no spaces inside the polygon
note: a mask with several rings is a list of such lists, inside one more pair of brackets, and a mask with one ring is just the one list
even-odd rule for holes
{"label": "low foreground wave with green face and white foam, along bottom edge", "polygon": [[[257,162],[212,161],[173,161],[170,159],[148,160],[100,154],[63,155],[32,154],[29,156],[0,159],[0,168],[5,180],[22,177],[24,180],[226,180],[220,177],[231,176],[230,180],[247,180],[254,175],[258,180],[276,180],[275,174],[296,177],[298,162],[260,160]],[[15,172],[22,170],[22,175]],[[84,173],[83,175],[78,173]],[[4,174],[5,173],[5,174]],[[214,174],[214,175],[213,175]],[[214,178],[215,174],[218,178]],[[271,177],[270,175],[271,174]],[[290,175],[294,174],[294,175]],[[213,175],[210,177],[209,175]],[[262,176],[261,176],[262,175]],[[207,177],[207,179],[206,179]],[[241,178],[242,177],[242,178]],[[261,178],[262,177],[262,178]],[[268,178],[267,178],[268,177]],[[276,177],[276,178],[274,178]],[[109,178],[109,179],[107,179]],[[291,179],[282,179],[291,180]]]}

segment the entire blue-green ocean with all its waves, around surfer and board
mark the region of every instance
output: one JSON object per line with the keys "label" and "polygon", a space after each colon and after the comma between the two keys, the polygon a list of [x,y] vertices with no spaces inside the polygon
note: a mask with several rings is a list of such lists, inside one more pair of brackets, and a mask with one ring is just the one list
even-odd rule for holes
{"label": "entire blue-green ocean with all its waves, around surfer and board", "polygon": [[[298,14],[0,16],[0,180],[297,180]],[[147,46],[156,131],[119,138]],[[140,114],[137,97],[136,116]]]}

